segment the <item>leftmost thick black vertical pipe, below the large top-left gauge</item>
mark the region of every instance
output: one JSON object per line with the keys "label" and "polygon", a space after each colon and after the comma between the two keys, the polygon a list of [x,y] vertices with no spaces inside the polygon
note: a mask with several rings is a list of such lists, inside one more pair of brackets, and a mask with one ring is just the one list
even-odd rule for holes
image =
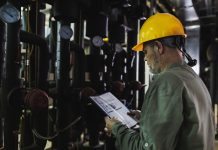
{"label": "leftmost thick black vertical pipe, below the large top-left gauge", "polygon": [[7,101],[9,92],[19,86],[19,29],[20,22],[6,25],[5,49],[2,68],[2,101],[5,117],[5,149],[16,150],[15,132],[19,126],[19,112],[14,110]]}

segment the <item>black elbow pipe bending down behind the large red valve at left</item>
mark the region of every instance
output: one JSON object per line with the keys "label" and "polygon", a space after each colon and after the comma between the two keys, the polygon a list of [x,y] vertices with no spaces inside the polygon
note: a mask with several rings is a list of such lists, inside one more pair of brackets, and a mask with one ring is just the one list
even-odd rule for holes
{"label": "black elbow pipe bending down behind the large red valve at left", "polygon": [[[21,42],[25,42],[25,43],[30,43],[30,44],[34,44],[34,45],[38,45],[39,46],[39,55],[38,55],[38,68],[37,68],[37,88],[43,90],[43,91],[47,91],[48,90],[48,83],[47,83],[47,75],[48,75],[48,68],[49,68],[49,48],[47,46],[46,40],[40,36],[37,36],[35,34],[26,32],[26,31],[22,31],[20,32],[20,40]],[[29,100],[31,101],[31,100]],[[43,101],[44,103],[44,101]],[[46,105],[47,105],[47,101],[45,101]],[[30,105],[32,106],[32,104],[30,103]],[[44,105],[44,104],[41,104]],[[34,106],[32,107],[36,107],[38,108],[38,106],[36,106],[34,104]],[[46,135],[47,134],[47,109],[43,109],[40,112],[32,112],[33,113],[33,126],[36,130],[39,131],[39,133],[41,133],[42,135]],[[41,115],[39,115],[41,114]],[[41,139],[36,139],[35,140],[35,144],[30,146],[30,147],[26,147],[24,149],[38,149],[41,148],[43,149],[46,145],[46,141],[45,140],[41,140]]]}

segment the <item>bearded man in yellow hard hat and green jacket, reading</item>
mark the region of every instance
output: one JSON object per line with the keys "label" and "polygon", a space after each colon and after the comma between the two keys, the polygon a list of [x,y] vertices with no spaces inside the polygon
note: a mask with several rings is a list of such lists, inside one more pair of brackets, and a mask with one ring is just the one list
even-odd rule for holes
{"label": "bearded man in yellow hard hat and green jacket, reading", "polygon": [[214,118],[208,90],[185,53],[181,22],[168,13],[149,17],[139,33],[135,51],[143,51],[154,80],[145,95],[141,113],[135,111],[139,131],[115,118],[106,128],[116,138],[118,150],[213,150]]}

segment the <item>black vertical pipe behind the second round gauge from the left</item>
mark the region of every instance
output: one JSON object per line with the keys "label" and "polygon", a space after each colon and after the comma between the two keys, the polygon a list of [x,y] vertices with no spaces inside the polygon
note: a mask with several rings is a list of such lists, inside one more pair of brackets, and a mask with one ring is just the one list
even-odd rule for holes
{"label": "black vertical pipe behind the second round gauge from the left", "polygon": [[[57,30],[62,25],[70,25],[63,22],[58,22]],[[56,88],[57,88],[57,113],[58,113],[58,128],[63,129],[69,123],[67,112],[67,95],[66,91],[69,89],[69,40],[62,39],[57,35],[57,51],[56,51]],[[64,131],[58,135],[58,149],[67,149],[68,137],[67,131]]]}

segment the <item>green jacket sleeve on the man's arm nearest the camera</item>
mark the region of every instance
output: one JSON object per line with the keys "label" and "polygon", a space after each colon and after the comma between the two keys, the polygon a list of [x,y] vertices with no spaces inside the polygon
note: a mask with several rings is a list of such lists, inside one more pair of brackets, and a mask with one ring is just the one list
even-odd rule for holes
{"label": "green jacket sleeve on the man's arm nearest the camera", "polygon": [[148,91],[139,132],[117,123],[113,126],[119,150],[175,149],[183,121],[182,83],[174,76],[156,82]]}

